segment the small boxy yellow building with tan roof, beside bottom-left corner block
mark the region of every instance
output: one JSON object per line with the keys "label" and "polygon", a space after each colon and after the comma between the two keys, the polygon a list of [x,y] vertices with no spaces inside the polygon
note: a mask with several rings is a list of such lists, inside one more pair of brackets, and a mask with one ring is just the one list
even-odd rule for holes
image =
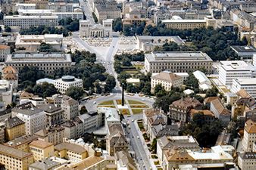
{"label": "small boxy yellow building with tan roof, beside bottom-left corner block", "polygon": [[46,141],[33,141],[30,143],[30,153],[33,154],[35,162],[40,161],[54,156],[54,146]]}

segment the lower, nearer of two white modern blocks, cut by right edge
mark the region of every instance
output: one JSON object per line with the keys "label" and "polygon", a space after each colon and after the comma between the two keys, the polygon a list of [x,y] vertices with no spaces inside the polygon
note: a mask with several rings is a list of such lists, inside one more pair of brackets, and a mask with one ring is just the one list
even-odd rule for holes
{"label": "lower, nearer of two white modern blocks, cut by right edge", "polygon": [[256,98],[256,78],[233,79],[231,91],[236,93],[241,89],[245,89],[251,97]]}

